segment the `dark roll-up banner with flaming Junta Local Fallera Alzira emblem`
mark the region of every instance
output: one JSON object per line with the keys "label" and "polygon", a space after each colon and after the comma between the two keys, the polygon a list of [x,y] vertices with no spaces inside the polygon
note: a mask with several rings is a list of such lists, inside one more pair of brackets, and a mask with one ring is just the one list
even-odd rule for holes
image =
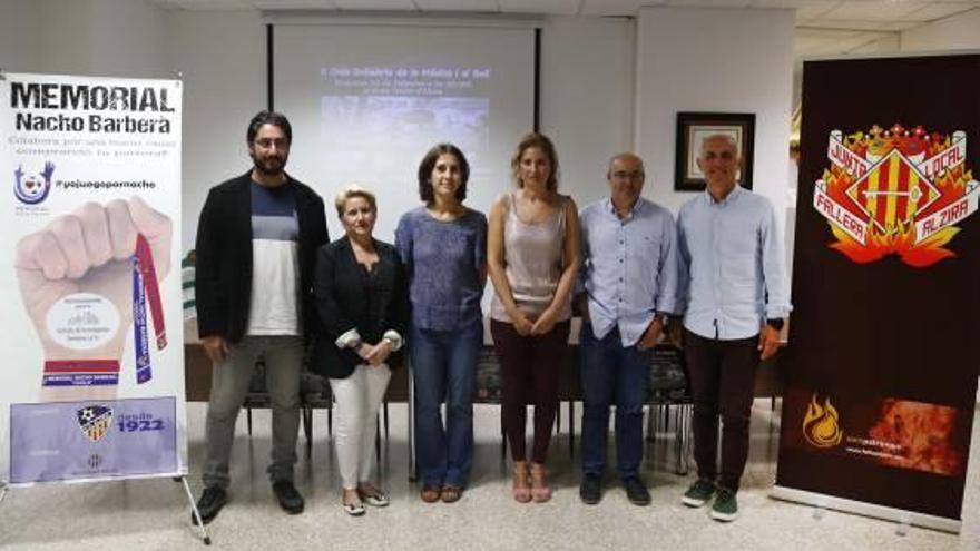
{"label": "dark roll-up banner with flaming Junta Local Fallera Alzira emblem", "polygon": [[774,495],[959,531],[980,365],[980,55],[811,61]]}

